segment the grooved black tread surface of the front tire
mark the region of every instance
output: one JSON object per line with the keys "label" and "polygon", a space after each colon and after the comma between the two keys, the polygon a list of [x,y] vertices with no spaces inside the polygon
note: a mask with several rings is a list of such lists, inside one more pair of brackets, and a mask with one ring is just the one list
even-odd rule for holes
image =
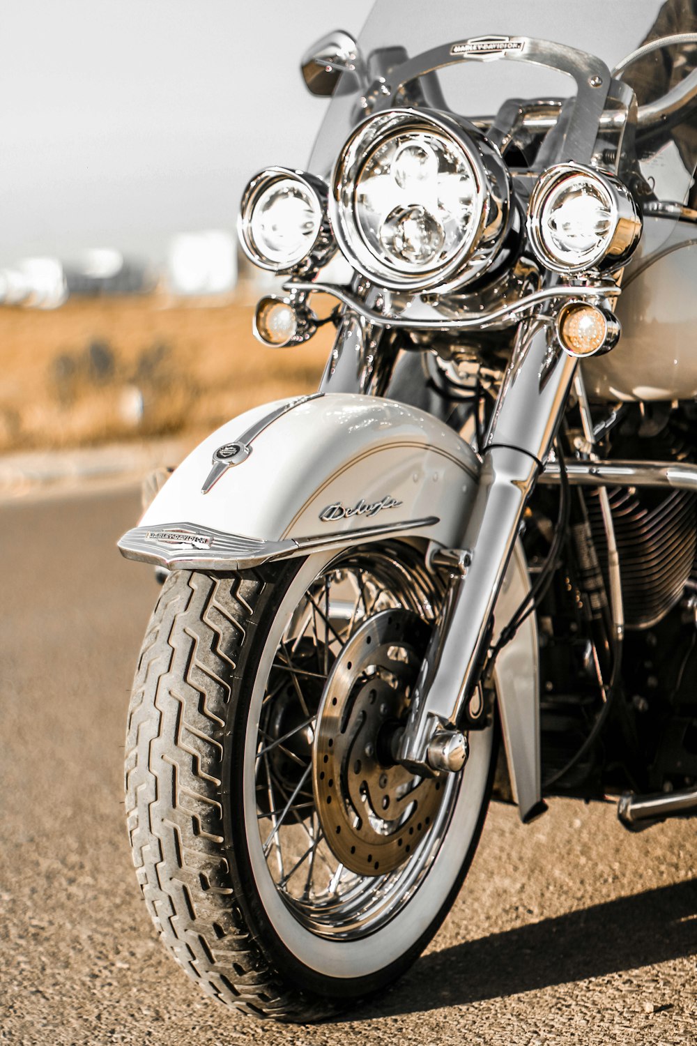
{"label": "grooved black tread surface of the front tire", "polygon": [[209,996],[256,1017],[317,1020],[327,1000],[291,991],[235,899],[223,821],[223,738],[242,645],[266,583],[257,574],[167,578],[129,708],[127,829],[162,942]]}

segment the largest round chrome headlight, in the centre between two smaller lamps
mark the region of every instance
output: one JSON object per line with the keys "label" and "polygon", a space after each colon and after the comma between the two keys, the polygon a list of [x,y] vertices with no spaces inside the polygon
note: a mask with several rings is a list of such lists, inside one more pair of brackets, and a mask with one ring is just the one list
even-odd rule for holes
{"label": "largest round chrome headlight, in the centre between two smaller lamps", "polygon": [[369,117],[344,145],[329,217],[349,262],[380,286],[459,286],[501,246],[510,205],[501,154],[448,114],[395,109]]}

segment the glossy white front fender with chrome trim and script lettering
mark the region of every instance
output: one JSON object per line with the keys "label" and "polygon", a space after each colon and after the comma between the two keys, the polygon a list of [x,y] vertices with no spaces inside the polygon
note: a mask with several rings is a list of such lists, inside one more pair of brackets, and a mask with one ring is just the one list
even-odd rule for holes
{"label": "glossy white front fender with chrome trim and script lettering", "polygon": [[[479,474],[471,447],[416,407],[344,393],[279,401],[228,422],[196,447],[119,548],[169,569],[226,571],[397,536],[450,548],[461,541]],[[494,634],[529,584],[518,543]],[[524,819],[540,799],[537,657],[530,615],[495,669]]]}

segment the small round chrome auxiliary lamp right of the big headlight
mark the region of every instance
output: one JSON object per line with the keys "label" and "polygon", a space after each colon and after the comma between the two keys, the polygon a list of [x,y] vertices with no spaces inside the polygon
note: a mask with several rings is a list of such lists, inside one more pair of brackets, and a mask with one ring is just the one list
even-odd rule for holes
{"label": "small round chrome auxiliary lamp right of the big headlight", "polygon": [[541,176],[530,197],[528,235],[554,272],[611,271],[638,243],[642,218],[617,178],[560,163]]}

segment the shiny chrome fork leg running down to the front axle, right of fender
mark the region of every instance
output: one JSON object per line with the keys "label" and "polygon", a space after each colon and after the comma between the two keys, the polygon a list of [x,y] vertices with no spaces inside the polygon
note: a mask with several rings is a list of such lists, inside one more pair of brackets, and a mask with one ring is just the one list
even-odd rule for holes
{"label": "shiny chrome fork leg running down to the front axle, right of fender", "polygon": [[513,551],[526,500],[566,402],[576,361],[550,348],[541,323],[518,335],[485,440],[480,486],[462,547],[471,553],[454,582],[448,613],[434,631],[412,697],[397,757],[427,766],[428,741],[441,724],[457,726],[474,691],[492,613]]}

